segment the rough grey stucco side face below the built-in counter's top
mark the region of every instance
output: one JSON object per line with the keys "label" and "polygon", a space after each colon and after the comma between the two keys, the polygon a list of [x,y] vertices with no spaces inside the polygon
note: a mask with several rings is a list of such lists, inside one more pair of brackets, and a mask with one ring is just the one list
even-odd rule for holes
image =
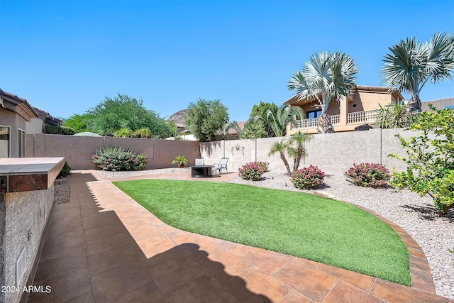
{"label": "rough grey stucco side face below the built-in counter's top", "polygon": [[[4,204],[6,206],[4,243],[8,248],[4,258],[4,285],[19,286],[22,289],[26,284],[38,253],[43,230],[49,219],[53,197],[53,184],[45,190],[4,194]],[[31,238],[28,241],[29,230],[31,230]],[[26,248],[27,268],[21,282],[16,285],[16,260],[23,248]],[[19,302],[21,296],[22,292],[6,293],[5,302]]]}

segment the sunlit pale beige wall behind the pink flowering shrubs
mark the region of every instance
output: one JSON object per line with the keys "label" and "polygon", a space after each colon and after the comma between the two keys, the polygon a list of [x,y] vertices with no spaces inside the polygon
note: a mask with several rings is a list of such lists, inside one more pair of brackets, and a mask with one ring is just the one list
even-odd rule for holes
{"label": "sunlit pale beige wall behind the pink flowering shrubs", "polygon": [[[411,131],[403,129],[370,129],[369,131],[350,131],[343,133],[328,133],[314,135],[306,142],[307,155],[301,160],[301,165],[318,165],[343,167],[348,169],[353,163],[362,162],[382,163],[389,170],[395,167],[402,171],[406,169],[403,161],[388,157],[389,153],[404,155],[400,147],[399,133],[404,138],[415,136]],[[229,158],[228,171],[238,172],[238,168],[247,162],[270,162],[270,170],[285,170],[279,154],[269,156],[271,145],[276,141],[288,140],[282,138],[260,138],[251,140],[231,140],[200,143],[201,157],[206,164],[218,162],[223,157]],[[293,159],[286,155],[290,166]],[[300,165],[300,167],[301,167]]]}

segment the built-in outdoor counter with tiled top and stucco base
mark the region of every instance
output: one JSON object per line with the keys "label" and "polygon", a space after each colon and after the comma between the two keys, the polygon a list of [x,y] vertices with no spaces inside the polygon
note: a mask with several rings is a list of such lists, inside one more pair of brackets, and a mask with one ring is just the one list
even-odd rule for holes
{"label": "built-in outdoor counter with tiled top and stucco base", "polygon": [[53,182],[65,158],[0,158],[0,302],[17,303],[53,206]]}

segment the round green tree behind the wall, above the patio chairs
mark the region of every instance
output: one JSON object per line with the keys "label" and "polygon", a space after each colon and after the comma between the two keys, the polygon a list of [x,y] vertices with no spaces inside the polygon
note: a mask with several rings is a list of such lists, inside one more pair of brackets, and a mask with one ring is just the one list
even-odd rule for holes
{"label": "round green tree behind the wall, above the patio chairs", "polygon": [[184,117],[184,126],[199,139],[199,141],[214,141],[216,132],[222,131],[228,121],[227,107],[221,100],[199,99],[189,103]]}

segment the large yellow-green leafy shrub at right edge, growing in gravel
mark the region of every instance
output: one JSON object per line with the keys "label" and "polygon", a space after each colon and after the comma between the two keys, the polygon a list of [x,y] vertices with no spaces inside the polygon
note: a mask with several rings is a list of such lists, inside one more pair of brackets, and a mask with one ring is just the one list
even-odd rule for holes
{"label": "large yellow-green leafy shrub at right edge, growing in gravel", "polygon": [[443,215],[454,207],[454,111],[429,107],[433,112],[423,111],[411,122],[409,129],[416,136],[397,136],[406,156],[389,156],[406,162],[407,170],[394,171],[389,185],[430,195]]}

